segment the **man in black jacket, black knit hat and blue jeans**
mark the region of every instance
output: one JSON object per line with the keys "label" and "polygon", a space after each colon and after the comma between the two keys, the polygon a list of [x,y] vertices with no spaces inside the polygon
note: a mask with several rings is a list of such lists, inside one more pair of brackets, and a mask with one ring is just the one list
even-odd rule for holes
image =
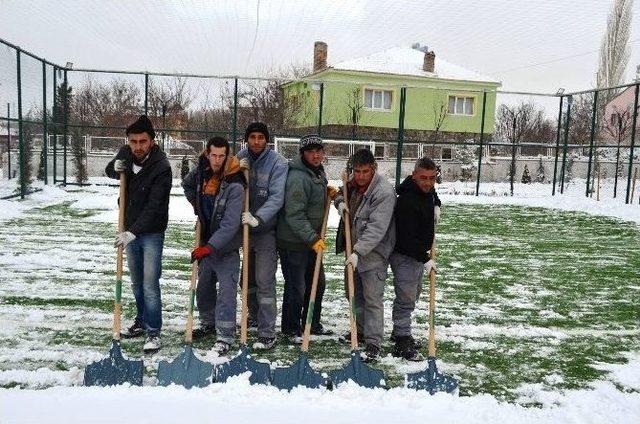
{"label": "man in black jacket, black knit hat and blue jeans", "polygon": [[161,347],[160,274],[169,220],[171,166],[154,141],[155,131],[147,116],[142,115],[131,124],[126,135],[127,145],[105,168],[110,178],[118,179],[124,172],[127,180],[125,231],[116,236],[115,246],[124,247],[127,253],[136,319],[123,337],[146,333],[143,350],[150,353]]}

